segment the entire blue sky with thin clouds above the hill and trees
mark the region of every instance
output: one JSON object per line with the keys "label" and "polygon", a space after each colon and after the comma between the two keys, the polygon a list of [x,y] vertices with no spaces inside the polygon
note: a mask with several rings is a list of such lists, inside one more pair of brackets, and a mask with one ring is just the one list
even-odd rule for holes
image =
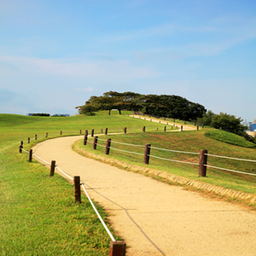
{"label": "entire blue sky with thin clouds above the hill and trees", "polygon": [[109,90],[256,119],[255,0],[0,0],[0,113]]}

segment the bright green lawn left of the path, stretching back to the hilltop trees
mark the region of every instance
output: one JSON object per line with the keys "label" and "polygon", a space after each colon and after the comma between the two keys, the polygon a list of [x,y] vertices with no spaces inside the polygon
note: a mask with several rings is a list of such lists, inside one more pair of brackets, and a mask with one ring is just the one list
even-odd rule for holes
{"label": "bright green lawn left of the path, stretching back to the hilltop trees", "polygon": [[[120,125],[121,124],[121,125]],[[106,127],[108,125],[108,127]],[[73,203],[73,186],[35,162],[27,154],[19,154],[20,141],[38,135],[25,145],[48,138],[79,135],[79,131],[108,128],[108,132],[162,131],[165,125],[132,119],[112,111],[88,117],[29,117],[0,114],[0,251],[2,255],[108,255],[110,238],[89,201],[83,196],[81,204]],[[170,129],[170,128],[169,128]],[[97,206],[102,217],[108,218]],[[110,228],[111,230],[111,228]],[[112,230],[113,231],[113,230]],[[114,232],[113,232],[114,235]],[[117,240],[121,238],[114,235]]]}

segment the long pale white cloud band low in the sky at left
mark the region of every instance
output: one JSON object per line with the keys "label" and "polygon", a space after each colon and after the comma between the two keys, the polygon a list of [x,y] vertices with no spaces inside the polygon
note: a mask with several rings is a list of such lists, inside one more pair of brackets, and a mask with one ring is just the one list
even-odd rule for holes
{"label": "long pale white cloud band low in the sky at left", "polygon": [[[88,61],[82,59],[39,59],[20,56],[2,56],[0,61],[6,63],[5,75],[15,73],[63,76],[70,78],[94,79],[98,82],[129,81],[159,77],[162,73],[151,67],[135,66],[128,60]],[[16,70],[10,69],[16,67]]]}

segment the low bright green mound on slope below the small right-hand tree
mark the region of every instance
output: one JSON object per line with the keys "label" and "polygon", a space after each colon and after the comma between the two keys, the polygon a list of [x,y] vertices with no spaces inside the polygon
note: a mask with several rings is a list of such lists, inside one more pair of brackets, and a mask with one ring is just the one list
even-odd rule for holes
{"label": "low bright green mound on slope below the small right-hand tree", "polygon": [[210,137],[212,139],[218,140],[224,143],[230,143],[233,145],[246,147],[246,148],[254,148],[256,144],[248,142],[244,137],[240,137],[234,133],[230,133],[228,131],[222,130],[209,130],[205,133],[206,137]]}

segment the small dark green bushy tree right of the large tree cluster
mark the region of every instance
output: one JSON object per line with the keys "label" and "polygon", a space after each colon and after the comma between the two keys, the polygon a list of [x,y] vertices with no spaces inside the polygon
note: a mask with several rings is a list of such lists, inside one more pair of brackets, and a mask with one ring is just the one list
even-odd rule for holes
{"label": "small dark green bushy tree right of the large tree cluster", "polygon": [[242,119],[236,118],[235,115],[220,112],[212,117],[211,126],[243,136],[244,131],[247,130],[247,126],[241,125],[241,121]]}

